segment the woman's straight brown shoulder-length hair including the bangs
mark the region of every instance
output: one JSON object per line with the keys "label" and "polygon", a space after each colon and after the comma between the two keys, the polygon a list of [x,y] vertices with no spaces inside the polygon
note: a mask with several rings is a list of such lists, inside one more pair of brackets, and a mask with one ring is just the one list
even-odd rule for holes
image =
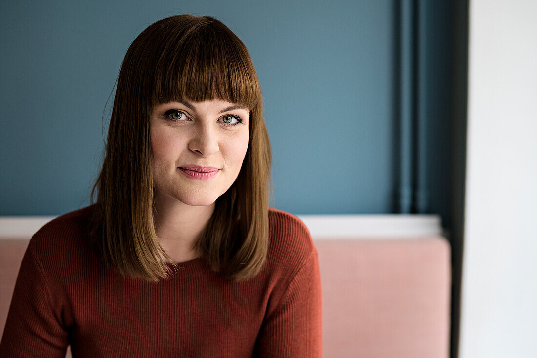
{"label": "woman's straight brown shoulder-length hair including the bangs", "polygon": [[[210,16],[150,25],[127,50],[117,79],[102,168],[90,199],[90,237],[108,268],[158,282],[172,269],[154,227],[150,115],[169,101],[226,100],[250,109],[250,142],[234,184],[195,243],[213,271],[240,282],[262,269],[269,246],[272,151],[256,70],[241,40]],[[269,187],[270,185],[270,187]]]}

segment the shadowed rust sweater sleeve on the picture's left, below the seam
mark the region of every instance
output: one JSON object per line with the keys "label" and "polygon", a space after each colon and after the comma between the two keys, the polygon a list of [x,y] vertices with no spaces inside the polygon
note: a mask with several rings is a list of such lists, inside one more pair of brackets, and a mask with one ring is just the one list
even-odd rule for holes
{"label": "shadowed rust sweater sleeve on the picture's left, below the seam", "polygon": [[8,311],[0,358],[64,358],[68,332],[50,301],[45,276],[33,254],[32,240],[21,262]]}

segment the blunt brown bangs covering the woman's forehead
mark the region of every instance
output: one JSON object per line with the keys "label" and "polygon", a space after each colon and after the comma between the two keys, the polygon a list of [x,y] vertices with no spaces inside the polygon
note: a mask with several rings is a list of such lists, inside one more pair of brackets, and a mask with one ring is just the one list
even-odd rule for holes
{"label": "blunt brown bangs covering the woman's forehead", "polygon": [[171,27],[161,33],[152,105],[220,99],[251,111],[262,93],[248,50],[220,21],[204,19],[189,31]]}

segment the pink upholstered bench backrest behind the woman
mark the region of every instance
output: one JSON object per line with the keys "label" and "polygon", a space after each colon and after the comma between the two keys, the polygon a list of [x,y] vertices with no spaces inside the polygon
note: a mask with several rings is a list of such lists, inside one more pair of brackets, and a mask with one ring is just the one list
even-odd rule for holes
{"label": "pink upholstered bench backrest behind the woman", "polygon": [[[325,358],[448,357],[451,250],[444,237],[314,241]],[[0,335],[27,245],[0,238]]]}

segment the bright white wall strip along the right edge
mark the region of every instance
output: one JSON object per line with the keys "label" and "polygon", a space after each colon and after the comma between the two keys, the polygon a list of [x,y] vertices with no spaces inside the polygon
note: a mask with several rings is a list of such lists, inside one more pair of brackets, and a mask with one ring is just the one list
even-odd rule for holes
{"label": "bright white wall strip along the right edge", "polygon": [[460,357],[537,357],[537,1],[470,0]]}

